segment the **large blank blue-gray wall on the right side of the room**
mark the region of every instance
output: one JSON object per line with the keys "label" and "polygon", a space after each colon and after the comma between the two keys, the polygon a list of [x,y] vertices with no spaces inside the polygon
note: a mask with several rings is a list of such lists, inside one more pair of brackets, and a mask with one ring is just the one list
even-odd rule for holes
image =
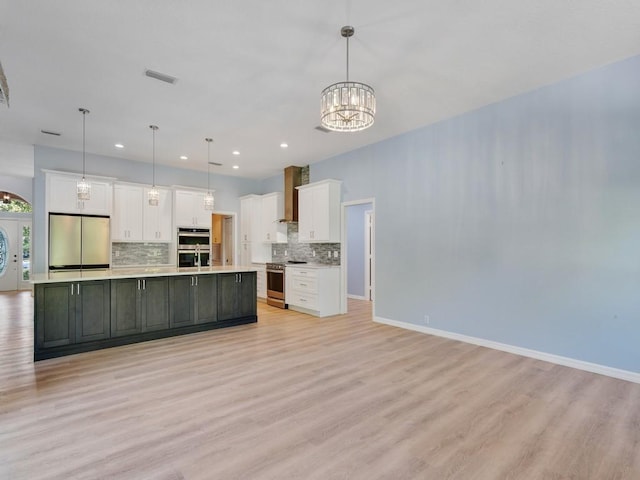
{"label": "large blank blue-gray wall on the right side of the room", "polygon": [[311,165],[376,200],[377,316],[640,372],[638,78],[634,57]]}

